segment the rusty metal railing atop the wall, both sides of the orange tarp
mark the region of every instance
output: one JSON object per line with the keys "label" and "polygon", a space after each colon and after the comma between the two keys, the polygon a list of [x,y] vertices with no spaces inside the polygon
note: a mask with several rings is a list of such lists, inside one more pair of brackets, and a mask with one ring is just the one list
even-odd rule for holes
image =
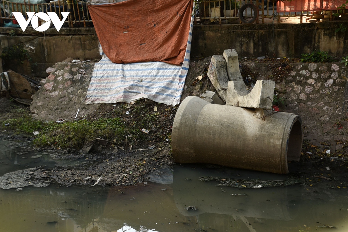
{"label": "rusty metal railing atop the wall, both sides of the orange tarp", "polygon": [[[0,0],[0,24],[1,26],[18,26],[12,12],[21,12],[27,18],[27,12],[55,12],[62,20],[62,12],[70,12],[65,20],[63,27],[93,27],[92,19],[88,12],[87,2],[82,0],[56,0],[48,3],[33,4],[30,0],[23,0],[23,3]],[[33,1],[33,0],[32,0]],[[114,3],[116,0],[99,0],[103,3]],[[252,17],[253,11],[247,8],[240,12],[239,8],[246,3],[253,3],[259,10],[259,17],[256,23],[264,23],[266,18],[273,18],[273,21],[279,23],[280,17],[307,17],[313,15],[311,11],[305,12],[286,12],[277,13],[276,3],[268,3],[268,0],[195,0],[195,23],[219,22],[229,23],[233,19],[238,19],[239,14],[246,17]],[[265,5],[266,4],[266,5]],[[330,17],[331,18],[331,17]],[[42,21],[42,20],[41,20]],[[209,22],[210,21],[210,22]],[[10,23],[11,22],[11,23]],[[40,22],[40,21],[39,21]],[[239,21],[241,23],[241,21]],[[8,25],[10,23],[10,25]],[[42,23],[42,22],[40,22]],[[40,24],[39,24],[40,25]],[[18,26],[19,27],[19,26]]]}

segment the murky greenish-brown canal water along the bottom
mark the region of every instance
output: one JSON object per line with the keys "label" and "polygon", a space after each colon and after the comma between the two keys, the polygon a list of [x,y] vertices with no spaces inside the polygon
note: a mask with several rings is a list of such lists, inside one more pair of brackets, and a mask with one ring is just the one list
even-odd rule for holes
{"label": "murky greenish-brown canal water along the bottom", "polygon": [[[26,146],[25,142],[21,146]],[[23,148],[11,148],[8,141],[0,141],[0,175],[25,166],[62,165],[50,154],[21,152]],[[31,158],[35,155],[42,156]],[[335,231],[348,231],[347,189],[330,189],[325,183],[260,189],[219,187],[219,182],[201,182],[199,177],[282,180],[285,176],[209,165],[176,166],[161,171],[150,179],[160,183],[122,188],[50,185],[24,187],[21,191],[0,189],[0,231],[333,230],[319,227],[324,224],[335,226]],[[197,210],[185,209],[189,206],[196,206]]]}

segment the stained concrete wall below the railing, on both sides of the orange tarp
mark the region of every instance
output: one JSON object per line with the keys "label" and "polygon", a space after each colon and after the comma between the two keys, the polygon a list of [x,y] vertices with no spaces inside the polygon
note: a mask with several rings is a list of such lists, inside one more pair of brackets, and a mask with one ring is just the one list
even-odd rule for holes
{"label": "stained concrete wall below the railing, on both sides of the orange tarp", "polygon": [[[328,51],[333,57],[348,55],[348,31],[334,33],[341,21],[302,24],[229,24],[195,25],[193,27],[191,58],[212,56],[235,48],[239,57],[300,57],[316,49]],[[8,45],[23,43],[35,47],[31,64],[8,68],[23,74],[46,77],[45,70],[67,57],[99,58],[98,38],[94,28],[49,28],[45,34],[27,28],[0,27],[8,36]],[[3,41],[3,40],[1,40]]]}

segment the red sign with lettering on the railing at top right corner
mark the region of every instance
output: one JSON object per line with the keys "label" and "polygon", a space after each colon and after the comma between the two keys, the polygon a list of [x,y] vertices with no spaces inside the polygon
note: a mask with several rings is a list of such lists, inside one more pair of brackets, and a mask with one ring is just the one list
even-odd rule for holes
{"label": "red sign with lettering on the railing at top right corner", "polygon": [[[278,1],[277,12],[300,12],[300,11],[320,11],[337,10],[346,0],[293,0]],[[347,9],[347,7],[346,7]]]}

